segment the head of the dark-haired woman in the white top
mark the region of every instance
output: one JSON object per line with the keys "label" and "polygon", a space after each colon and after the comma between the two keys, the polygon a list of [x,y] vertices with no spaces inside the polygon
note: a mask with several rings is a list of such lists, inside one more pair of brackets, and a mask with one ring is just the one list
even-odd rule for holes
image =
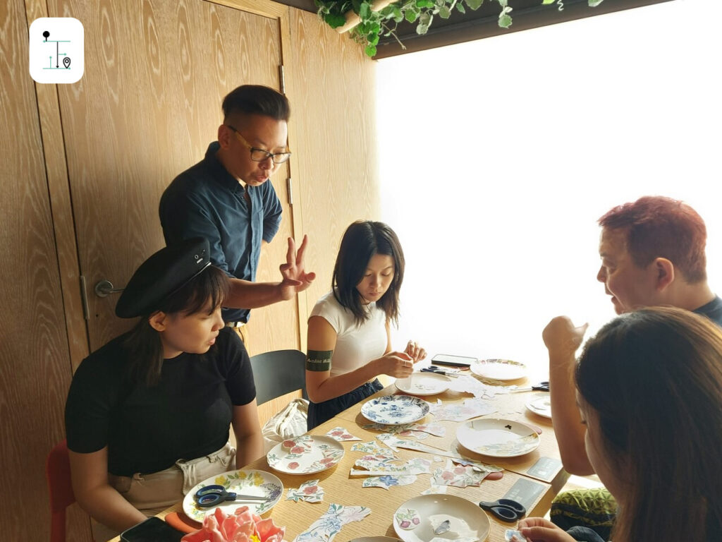
{"label": "head of the dark-haired woman in the white top", "polygon": [[349,225],[341,240],[334,266],[334,296],[355,316],[367,319],[370,302],[399,319],[399,291],[404,281],[404,251],[396,233],[382,222],[358,220]]}

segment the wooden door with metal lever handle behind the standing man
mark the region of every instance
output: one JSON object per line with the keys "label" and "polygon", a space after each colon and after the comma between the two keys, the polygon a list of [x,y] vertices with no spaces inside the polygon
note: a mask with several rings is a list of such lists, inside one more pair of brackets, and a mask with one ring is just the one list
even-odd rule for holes
{"label": "wooden door with metal lever handle behind the standing man", "polygon": [[[279,89],[279,19],[254,11],[201,0],[48,0],[51,17],[76,17],[85,29],[82,81],[58,94],[91,350],[134,323],[115,316],[117,294],[97,296],[94,286],[122,288],[164,245],[160,195],[216,139],[223,97],[245,83]],[[288,167],[272,179],[284,220],[258,280],[277,280],[293,233]],[[251,353],[297,348],[297,321],[294,303],[254,310]]]}

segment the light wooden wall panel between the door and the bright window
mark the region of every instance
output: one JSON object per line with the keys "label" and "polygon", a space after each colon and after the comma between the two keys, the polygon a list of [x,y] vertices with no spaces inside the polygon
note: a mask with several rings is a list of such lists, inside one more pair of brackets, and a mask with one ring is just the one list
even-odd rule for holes
{"label": "light wooden wall panel between the door and the bright window", "polygon": [[290,72],[296,120],[297,167],[308,289],[302,336],[316,300],[331,289],[341,236],[357,219],[378,220],[375,150],[375,63],[348,35],[330,30],[316,14],[291,9]]}

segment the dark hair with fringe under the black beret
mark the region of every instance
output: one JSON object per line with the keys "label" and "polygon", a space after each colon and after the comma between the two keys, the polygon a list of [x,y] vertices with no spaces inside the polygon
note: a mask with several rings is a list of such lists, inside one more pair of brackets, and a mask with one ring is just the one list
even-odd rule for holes
{"label": "dark hair with fringe under the black beret", "polygon": [[159,333],[148,322],[151,314],[157,311],[166,314],[195,314],[205,309],[209,301],[210,312],[213,312],[223,303],[228,288],[225,272],[209,265],[200,275],[160,301],[150,314],[142,317],[123,341],[123,345],[129,350],[127,374],[131,382],[144,382],[150,387],[160,379],[163,345]]}

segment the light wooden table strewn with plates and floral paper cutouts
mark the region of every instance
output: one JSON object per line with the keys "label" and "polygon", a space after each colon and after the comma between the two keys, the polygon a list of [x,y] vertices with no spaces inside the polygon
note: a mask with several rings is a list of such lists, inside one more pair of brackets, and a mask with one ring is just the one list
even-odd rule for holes
{"label": "light wooden table strewn with plates and floral paper cutouts", "polygon": [[[520,386],[527,385],[525,382],[515,382]],[[374,397],[381,395],[390,395],[396,393],[396,387],[391,384],[378,392]],[[540,494],[536,496],[533,504],[529,508],[529,516],[541,516],[547,512],[554,496],[560,491],[565,484],[568,475],[564,470],[552,472],[551,476],[542,476],[547,478],[549,483],[541,481],[540,477],[530,476],[527,471],[534,465],[540,457],[550,457],[552,460],[559,459],[559,450],[557,441],[554,438],[551,421],[542,418],[534,413],[529,412],[525,408],[526,401],[529,400],[531,392],[520,392],[514,394],[497,395],[491,404],[497,408],[497,413],[484,416],[486,418],[506,418],[510,420],[522,421],[529,423],[541,429],[541,444],[539,448],[529,454],[521,457],[513,457],[508,459],[500,459],[495,457],[486,457],[474,454],[474,452],[465,452],[471,459],[482,460],[484,463],[491,463],[505,469],[504,476],[498,481],[485,480],[481,486],[468,486],[466,488],[457,488],[453,486],[447,487],[447,494],[461,496],[471,502],[479,502],[481,500],[495,500],[505,496],[515,483],[523,483],[529,481],[539,484]],[[423,397],[431,403],[435,403],[438,398],[444,403],[461,402],[471,397],[467,393],[458,393],[447,391],[442,394]],[[364,478],[349,476],[349,470],[354,466],[357,459],[362,457],[362,452],[352,452],[351,447],[357,442],[370,442],[375,439],[383,431],[375,431],[373,429],[362,429],[363,425],[370,423],[361,413],[362,403],[354,405],[352,408],[339,413],[338,416],[323,423],[322,425],[310,431],[310,434],[326,434],[334,427],[342,426],[349,433],[362,439],[361,441],[345,441],[342,445],[345,450],[344,457],[337,465],[329,470],[321,473],[307,474],[303,476],[292,475],[287,473],[279,473],[272,470],[266,462],[266,457],[254,461],[246,468],[255,468],[258,470],[266,470],[274,473],[281,479],[284,486],[284,496],[264,517],[272,517],[277,525],[285,525],[287,542],[293,539],[318,520],[321,515],[329,508],[329,504],[343,504],[345,506],[363,505],[371,509],[370,515],[360,522],[351,522],[344,525],[342,530],[336,535],[334,542],[347,542],[352,538],[360,536],[386,535],[396,538],[393,530],[393,512],[408,499],[419,495],[422,491],[430,487],[430,475],[421,474],[417,476],[417,481],[409,486],[394,486],[391,489],[382,488],[362,488]],[[434,421],[434,416],[429,415],[425,421]],[[456,426],[461,422],[453,421],[434,421],[441,423],[446,427],[446,435],[443,437],[429,436],[421,441],[432,447],[440,447],[449,449],[449,446],[456,441]],[[378,442],[378,441],[377,441]],[[432,459],[432,455],[417,452],[414,450],[399,449],[396,455],[402,460],[408,460],[412,457],[425,457]],[[443,463],[432,463],[434,467],[445,465],[446,458]],[[319,485],[323,488],[325,494],[321,503],[293,502],[285,500],[285,492],[289,488],[297,488],[301,483],[319,478]],[[519,482],[522,481],[522,482]],[[183,507],[181,503],[165,510],[159,514],[159,517],[165,517],[169,512],[180,512]],[[492,515],[488,515],[491,523],[490,535],[487,538],[489,542],[503,542],[504,532],[506,529],[513,527],[515,524],[500,522]],[[113,540],[119,540],[115,538]]]}

